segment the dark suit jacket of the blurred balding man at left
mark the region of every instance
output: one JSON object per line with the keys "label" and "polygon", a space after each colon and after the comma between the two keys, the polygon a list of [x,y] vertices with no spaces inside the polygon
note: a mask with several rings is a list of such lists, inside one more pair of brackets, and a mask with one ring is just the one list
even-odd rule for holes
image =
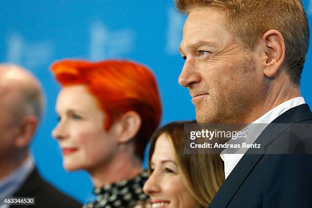
{"label": "dark suit jacket of the blurred balding man at left", "polygon": [[48,184],[34,169],[13,197],[36,197],[36,205],[11,205],[10,208],[81,208],[82,204]]}

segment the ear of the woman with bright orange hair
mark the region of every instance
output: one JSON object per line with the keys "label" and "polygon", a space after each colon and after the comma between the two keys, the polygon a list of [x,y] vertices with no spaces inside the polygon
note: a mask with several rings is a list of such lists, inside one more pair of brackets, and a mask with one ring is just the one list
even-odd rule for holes
{"label": "ear of the woman with bright orange hair", "polygon": [[128,111],[117,121],[119,124],[118,143],[124,144],[130,141],[138,133],[141,127],[141,117],[135,111]]}

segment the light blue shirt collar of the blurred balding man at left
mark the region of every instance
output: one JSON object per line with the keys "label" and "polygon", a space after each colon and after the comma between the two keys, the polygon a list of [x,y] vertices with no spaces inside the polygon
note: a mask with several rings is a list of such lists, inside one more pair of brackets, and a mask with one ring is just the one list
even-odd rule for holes
{"label": "light blue shirt collar of the blurred balding man at left", "polygon": [[0,180],[0,208],[7,208],[10,206],[9,204],[3,204],[3,201],[5,198],[13,196],[31,174],[34,167],[34,160],[29,156],[14,172]]}

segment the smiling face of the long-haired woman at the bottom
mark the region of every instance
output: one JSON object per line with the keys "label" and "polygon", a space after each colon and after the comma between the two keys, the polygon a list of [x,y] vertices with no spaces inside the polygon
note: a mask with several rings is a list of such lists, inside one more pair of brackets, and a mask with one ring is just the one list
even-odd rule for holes
{"label": "smiling face of the long-haired woman at the bottom", "polygon": [[159,136],[151,158],[152,173],[144,185],[144,192],[150,196],[152,208],[196,208],[199,203],[183,184],[170,138]]}

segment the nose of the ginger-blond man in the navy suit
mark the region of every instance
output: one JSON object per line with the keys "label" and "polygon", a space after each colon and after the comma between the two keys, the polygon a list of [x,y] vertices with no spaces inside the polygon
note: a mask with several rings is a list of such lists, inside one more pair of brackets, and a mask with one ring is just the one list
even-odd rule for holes
{"label": "nose of the ginger-blond man in the navy suit", "polygon": [[178,83],[183,87],[190,87],[194,83],[201,81],[201,75],[196,72],[195,64],[191,60],[186,60],[183,69],[179,75]]}

